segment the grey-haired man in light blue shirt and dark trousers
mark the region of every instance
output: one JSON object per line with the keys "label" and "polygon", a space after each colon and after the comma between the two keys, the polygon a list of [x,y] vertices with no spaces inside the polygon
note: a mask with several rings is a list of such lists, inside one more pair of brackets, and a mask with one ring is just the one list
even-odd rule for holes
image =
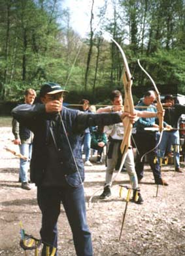
{"label": "grey-haired man in light blue shirt and dark trousers", "polygon": [[[154,91],[147,91],[144,95],[143,101],[140,102],[137,106],[146,107],[146,112],[154,112],[156,113],[156,106],[154,105],[154,101],[156,100],[156,95]],[[141,111],[142,108],[137,108],[137,110]],[[170,127],[167,123],[163,122],[164,127]],[[155,148],[160,133],[156,131],[145,131],[145,127],[156,127],[158,128],[158,119],[156,117],[141,117],[139,118],[136,123],[135,127],[137,132],[135,133],[135,144],[137,145],[137,157],[135,163],[135,171],[137,173],[137,178],[139,182],[143,179],[144,176],[144,158],[141,161],[143,155],[148,152],[148,161],[150,167],[153,171],[154,181],[156,184],[165,185],[167,186],[167,182],[161,178],[161,167],[158,161],[158,148]],[[154,150],[152,150],[154,148]],[[150,152],[150,150],[152,150]]]}

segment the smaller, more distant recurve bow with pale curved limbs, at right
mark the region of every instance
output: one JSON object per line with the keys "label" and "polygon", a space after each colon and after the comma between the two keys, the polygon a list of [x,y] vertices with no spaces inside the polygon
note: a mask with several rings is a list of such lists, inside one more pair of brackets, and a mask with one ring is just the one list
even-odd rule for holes
{"label": "smaller, more distant recurve bow with pale curved limbs, at right", "polygon": [[152,81],[152,85],[154,86],[154,93],[156,95],[156,101],[157,101],[157,110],[158,113],[160,113],[160,116],[158,117],[159,119],[159,129],[158,131],[160,131],[160,139],[158,141],[158,143],[156,144],[156,146],[154,148],[152,148],[151,150],[149,150],[148,152],[146,152],[142,157],[141,157],[141,161],[143,161],[144,156],[146,156],[146,154],[152,152],[153,150],[155,150],[156,148],[158,148],[162,136],[163,136],[163,105],[161,104],[161,98],[160,98],[160,92],[158,91],[158,87],[156,86],[156,83],[154,82],[154,80],[152,79],[152,77],[148,74],[148,72],[146,72],[146,70],[144,70],[143,66],[141,66],[141,63],[139,62],[139,59],[137,60],[141,70],[143,70],[143,72],[149,77],[150,81]]}

